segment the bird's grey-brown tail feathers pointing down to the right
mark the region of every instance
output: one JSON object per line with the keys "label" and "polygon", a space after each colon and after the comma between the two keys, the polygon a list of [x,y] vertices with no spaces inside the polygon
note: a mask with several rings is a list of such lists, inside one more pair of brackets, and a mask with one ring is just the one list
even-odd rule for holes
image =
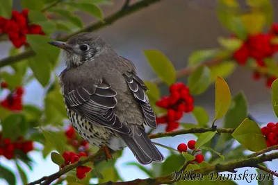
{"label": "bird's grey-brown tail feathers pointing down to the right", "polygon": [[120,138],[126,143],[140,164],[150,164],[152,161],[163,161],[164,157],[154,146],[151,139],[147,136],[145,130],[133,126],[134,134],[132,136],[119,133]]}

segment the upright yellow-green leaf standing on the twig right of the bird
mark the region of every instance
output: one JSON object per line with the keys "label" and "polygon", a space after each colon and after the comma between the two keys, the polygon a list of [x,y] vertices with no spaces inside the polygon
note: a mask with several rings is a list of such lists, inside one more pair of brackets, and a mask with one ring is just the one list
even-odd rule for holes
{"label": "upright yellow-green leaf standing on the twig right of the bird", "polygon": [[228,111],[231,104],[231,92],[227,82],[218,76],[215,80],[215,118],[222,118]]}

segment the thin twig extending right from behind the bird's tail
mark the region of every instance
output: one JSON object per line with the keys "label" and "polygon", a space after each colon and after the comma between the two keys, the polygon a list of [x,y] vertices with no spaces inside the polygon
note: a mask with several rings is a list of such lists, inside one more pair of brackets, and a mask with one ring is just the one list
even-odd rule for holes
{"label": "thin twig extending right from behind the bird's tail", "polygon": [[[217,128],[216,131],[219,133],[233,133],[234,128]],[[208,127],[200,127],[200,128],[190,128],[190,129],[182,129],[182,130],[177,130],[173,132],[162,132],[162,133],[156,133],[156,134],[149,134],[150,139],[154,138],[160,138],[160,137],[165,137],[165,136],[177,136],[181,134],[193,134],[193,133],[204,133],[204,132],[209,132],[209,131],[215,131],[215,129]]]}

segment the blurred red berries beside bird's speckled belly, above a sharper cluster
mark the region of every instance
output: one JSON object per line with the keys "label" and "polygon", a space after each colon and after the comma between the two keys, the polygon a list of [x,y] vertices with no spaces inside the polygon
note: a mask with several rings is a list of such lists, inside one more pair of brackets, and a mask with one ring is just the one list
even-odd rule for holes
{"label": "blurred red berries beside bird's speckled belly, above a sharper cluster", "polygon": [[[73,146],[76,149],[88,151],[89,143],[84,139],[79,139],[77,136],[74,127],[70,126],[67,128],[65,135],[67,136],[67,143]],[[88,153],[88,152],[87,152]]]}

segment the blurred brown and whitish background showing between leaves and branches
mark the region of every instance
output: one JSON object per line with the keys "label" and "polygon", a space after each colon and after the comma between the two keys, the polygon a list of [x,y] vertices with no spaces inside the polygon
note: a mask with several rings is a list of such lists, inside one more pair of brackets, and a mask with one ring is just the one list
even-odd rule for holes
{"label": "blurred brown and whitish background showing between leaves and branches", "polygon": [[[245,1],[245,0],[242,0]],[[135,1],[131,1],[133,3]],[[111,15],[121,8],[124,0],[115,0],[113,5],[101,6],[104,15]],[[14,8],[20,10],[19,1],[14,1]],[[274,10],[278,9],[278,1],[272,0]],[[90,15],[81,14],[85,24],[96,21]],[[277,12],[275,21],[278,21]],[[183,69],[187,66],[188,55],[198,49],[212,49],[218,47],[217,38],[229,36],[219,23],[215,14],[215,1],[206,0],[161,0],[148,8],[142,9],[132,15],[119,19],[111,26],[101,28],[96,32],[104,38],[108,44],[111,44],[115,51],[125,58],[133,61],[138,69],[138,74],[142,80],[152,80],[156,74],[149,66],[142,51],[147,49],[158,49],[163,52],[167,58],[174,64],[175,69]],[[1,58],[8,56],[11,44],[8,42],[0,43]],[[63,58],[56,69],[58,75],[65,68]],[[186,82],[186,78],[180,78],[180,82]],[[252,71],[238,67],[234,73],[227,78],[227,83],[231,89],[231,94],[235,95],[243,91],[247,98],[250,114],[262,125],[268,122],[277,122],[272,105],[270,89],[265,87],[263,80],[256,82],[252,79]],[[167,94],[167,88],[160,86],[163,94]],[[37,82],[33,81],[26,87],[24,103],[32,103],[42,106],[44,89]],[[214,116],[215,89],[211,86],[208,91],[200,96],[195,96],[195,105],[201,105],[210,114],[211,120]],[[183,123],[193,122],[191,116],[184,116]],[[219,125],[220,122],[216,123]],[[219,125],[221,126],[221,125]],[[163,132],[163,125],[156,132]],[[195,139],[195,136],[186,134],[175,136],[173,138],[155,139],[158,143],[165,146],[177,148],[181,142],[187,142],[189,139]],[[40,147],[40,146],[38,146]],[[159,148],[163,154],[167,155],[165,148]],[[44,175],[50,175],[57,170],[56,164],[51,162],[50,157],[43,159],[40,152],[31,152],[31,157],[35,161],[33,171],[28,171],[28,181],[33,182]],[[136,161],[129,149],[124,149],[124,157],[117,161],[117,169],[124,180],[136,178],[145,178],[147,175],[133,166],[125,166],[129,161]],[[0,162],[15,168],[14,164],[3,157]],[[278,170],[278,160],[267,163],[273,170]],[[252,168],[248,168],[250,173],[256,173]],[[244,171],[245,168],[240,171]],[[17,176],[18,177],[18,176]],[[20,181],[19,181],[20,183]],[[247,182],[238,182],[239,184],[248,184]],[[0,180],[0,184],[6,184]],[[256,181],[250,184],[257,184]],[[278,184],[278,179],[275,180]]]}

